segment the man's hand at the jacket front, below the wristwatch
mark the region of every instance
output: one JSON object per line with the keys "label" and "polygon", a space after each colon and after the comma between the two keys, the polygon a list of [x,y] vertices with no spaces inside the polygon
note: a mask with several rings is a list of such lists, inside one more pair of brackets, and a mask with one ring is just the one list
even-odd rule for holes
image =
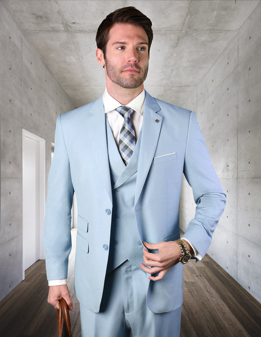
{"label": "man's hand at the jacket front, below the wristwatch", "polygon": [[[184,240],[184,243],[188,246],[187,241],[185,242]],[[162,241],[159,243],[147,243],[143,241],[143,244],[146,248],[158,249],[159,252],[157,254],[149,253],[143,247],[143,260],[145,265],[141,263],[142,269],[149,274],[159,273],[158,276],[149,276],[150,280],[162,280],[168,269],[179,262],[181,250],[178,243],[176,241]],[[152,268],[148,268],[148,266]]]}

